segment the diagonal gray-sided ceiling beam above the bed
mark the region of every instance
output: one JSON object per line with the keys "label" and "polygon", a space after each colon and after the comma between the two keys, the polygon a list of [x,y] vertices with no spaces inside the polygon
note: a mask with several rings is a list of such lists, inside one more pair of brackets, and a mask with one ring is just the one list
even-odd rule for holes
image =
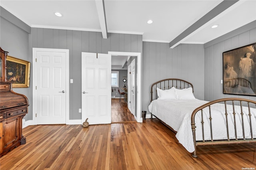
{"label": "diagonal gray-sided ceiling beam above the bed", "polygon": [[215,8],[210,10],[207,14],[205,14],[202,18],[200,18],[198,21],[196,21],[194,24],[192,24],[190,27],[188,27],[184,32],[182,32],[180,35],[178,35],[174,40],[172,40],[169,43],[170,48],[174,48],[177,45],[179,45],[181,42],[185,40],[186,37],[188,37],[190,34],[192,34],[194,31],[196,31],[198,28],[212,20],[214,17],[218,16],[222,12],[224,12],[226,9],[230,8],[230,6],[234,5],[239,0],[224,0],[220,4],[218,4]]}

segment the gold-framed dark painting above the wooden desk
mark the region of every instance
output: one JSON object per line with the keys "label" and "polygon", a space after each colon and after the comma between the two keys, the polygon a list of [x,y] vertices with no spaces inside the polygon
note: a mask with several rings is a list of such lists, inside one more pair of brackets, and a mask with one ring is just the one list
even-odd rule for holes
{"label": "gold-framed dark painting above the wooden desk", "polygon": [[6,79],[13,88],[29,87],[30,62],[7,55]]}

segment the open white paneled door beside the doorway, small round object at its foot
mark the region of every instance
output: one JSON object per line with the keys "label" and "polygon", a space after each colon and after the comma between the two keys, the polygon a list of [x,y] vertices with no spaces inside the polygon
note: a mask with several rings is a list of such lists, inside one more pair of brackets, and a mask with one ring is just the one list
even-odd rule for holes
{"label": "open white paneled door beside the doorway, small round object at its foot", "polygon": [[111,55],[82,52],[82,123],[111,123]]}

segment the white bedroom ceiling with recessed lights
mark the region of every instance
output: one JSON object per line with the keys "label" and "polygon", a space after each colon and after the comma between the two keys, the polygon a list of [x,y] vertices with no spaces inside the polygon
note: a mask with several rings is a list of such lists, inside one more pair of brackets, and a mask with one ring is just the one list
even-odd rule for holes
{"label": "white bedroom ceiling with recessed lights", "polygon": [[[170,47],[179,43],[203,44],[256,20],[256,0],[240,0],[204,19],[204,23],[197,23],[211,10],[220,10],[222,4],[222,0],[0,1],[3,8],[30,27],[96,31],[102,32],[103,38],[106,32],[141,34],[143,41],[175,44]],[[63,16],[57,17],[55,12]],[[153,23],[147,24],[148,20]],[[215,24],[219,26],[211,28]],[[184,36],[183,32],[188,34]]]}

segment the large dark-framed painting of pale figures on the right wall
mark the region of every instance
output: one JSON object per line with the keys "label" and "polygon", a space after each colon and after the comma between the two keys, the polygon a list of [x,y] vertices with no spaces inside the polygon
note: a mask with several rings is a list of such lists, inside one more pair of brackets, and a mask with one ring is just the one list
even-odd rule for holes
{"label": "large dark-framed painting of pale figures on the right wall", "polygon": [[256,96],[256,43],[225,51],[223,93]]}

